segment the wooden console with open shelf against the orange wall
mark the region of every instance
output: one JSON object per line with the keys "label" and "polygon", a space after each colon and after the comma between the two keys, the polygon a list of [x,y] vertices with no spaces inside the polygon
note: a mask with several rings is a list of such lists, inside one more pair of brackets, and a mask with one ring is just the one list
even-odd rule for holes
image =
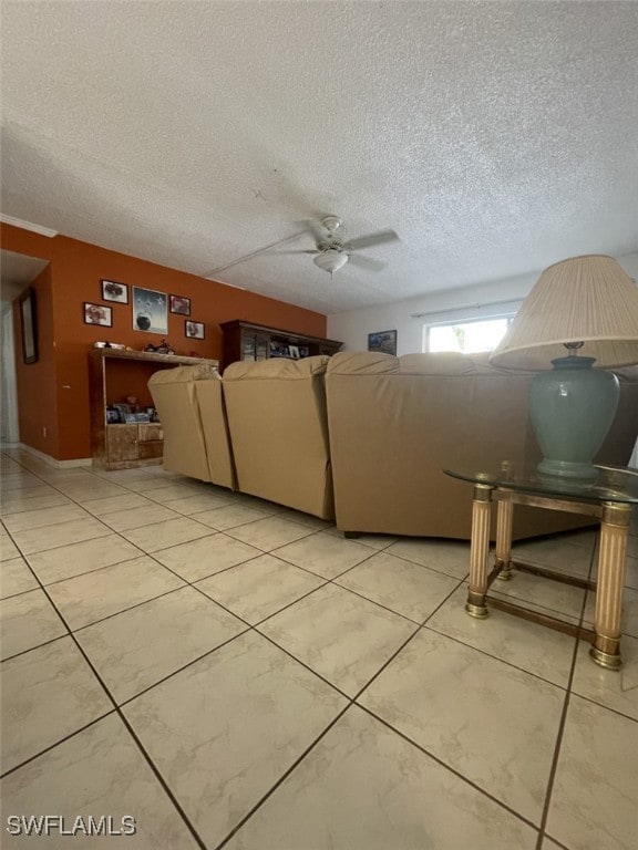
{"label": "wooden console with open shelf against the orange wall", "polygon": [[152,407],[148,379],[160,369],[194,366],[216,360],[182,357],[121,349],[92,349],[89,354],[91,454],[97,469],[131,469],[162,463],[164,434],[161,423],[106,422],[106,408],[136,396],[141,407]]}

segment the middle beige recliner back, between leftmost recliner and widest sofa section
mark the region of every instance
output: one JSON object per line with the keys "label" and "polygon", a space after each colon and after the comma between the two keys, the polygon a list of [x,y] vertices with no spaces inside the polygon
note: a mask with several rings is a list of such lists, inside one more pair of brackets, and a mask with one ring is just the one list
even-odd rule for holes
{"label": "middle beige recliner back, between leftmost recliner and widest sofa section", "polygon": [[329,357],[231,363],[224,398],[241,493],[332,519],[326,417]]}

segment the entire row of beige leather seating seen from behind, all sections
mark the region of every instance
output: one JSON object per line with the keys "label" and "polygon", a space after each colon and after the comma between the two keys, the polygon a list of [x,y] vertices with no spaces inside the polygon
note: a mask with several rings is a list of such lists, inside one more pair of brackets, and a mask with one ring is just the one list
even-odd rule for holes
{"label": "entire row of beige leather seating seen from behind, all sections", "polygon": [[[341,352],[331,359],[202,366],[150,382],[168,469],[323,519],[343,532],[469,539],[472,487],[444,467],[536,462],[532,375],[487,355]],[[638,367],[598,459],[627,464],[638,432]],[[517,508],[516,539],[586,525]]]}

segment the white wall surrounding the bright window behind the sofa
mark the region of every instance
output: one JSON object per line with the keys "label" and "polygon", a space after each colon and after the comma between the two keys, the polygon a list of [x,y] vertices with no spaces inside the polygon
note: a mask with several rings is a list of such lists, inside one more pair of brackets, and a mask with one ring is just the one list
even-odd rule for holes
{"label": "white wall surrounding the bright window behind the sofa", "polygon": [[[630,277],[638,278],[638,252],[617,259]],[[389,304],[336,313],[328,317],[328,336],[331,340],[343,342],[344,350],[367,351],[369,333],[395,330],[397,353],[399,355],[412,354],[421,351],[423,324],[428,321],[425,318],[413,318],[414,313],[438,313],[439,311],[470,308],[467,312],[453,314],[447,320],[487,315],[490,308],[476,309],[476,304],[522,301],[538,279],[539,273],[524,274],[491,283],[476,283],[463,289],[430,292],[407,301],[394,301]],[[497,308],[493,310],[497,311]],[[441,315],[438,315],[436,319],[444,320]]]}

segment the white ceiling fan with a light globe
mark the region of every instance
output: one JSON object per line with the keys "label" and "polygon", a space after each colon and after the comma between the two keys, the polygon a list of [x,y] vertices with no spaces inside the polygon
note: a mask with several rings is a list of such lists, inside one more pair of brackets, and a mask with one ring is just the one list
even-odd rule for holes
{"label": "white ceiling fan with a light globe", "polygon": [[394,242],[399,239],[394,230],[381,230],[377,234],[360,236],[357,239],[342,239],[337,232],[341,228],[339,216],[323,216],[321,227],[316,221],[308,222],[309,229],[315,235],[316,247],[313,250],[299,249],[296,251],[281,251],[281,253],[309,253],[313,256],[312,262],[323,271],[333,272],[343,268],[347,262],[378,271],[384,268],[384,263],[372,257],[357,253],[360,248],[372,248],[384,242]]}

